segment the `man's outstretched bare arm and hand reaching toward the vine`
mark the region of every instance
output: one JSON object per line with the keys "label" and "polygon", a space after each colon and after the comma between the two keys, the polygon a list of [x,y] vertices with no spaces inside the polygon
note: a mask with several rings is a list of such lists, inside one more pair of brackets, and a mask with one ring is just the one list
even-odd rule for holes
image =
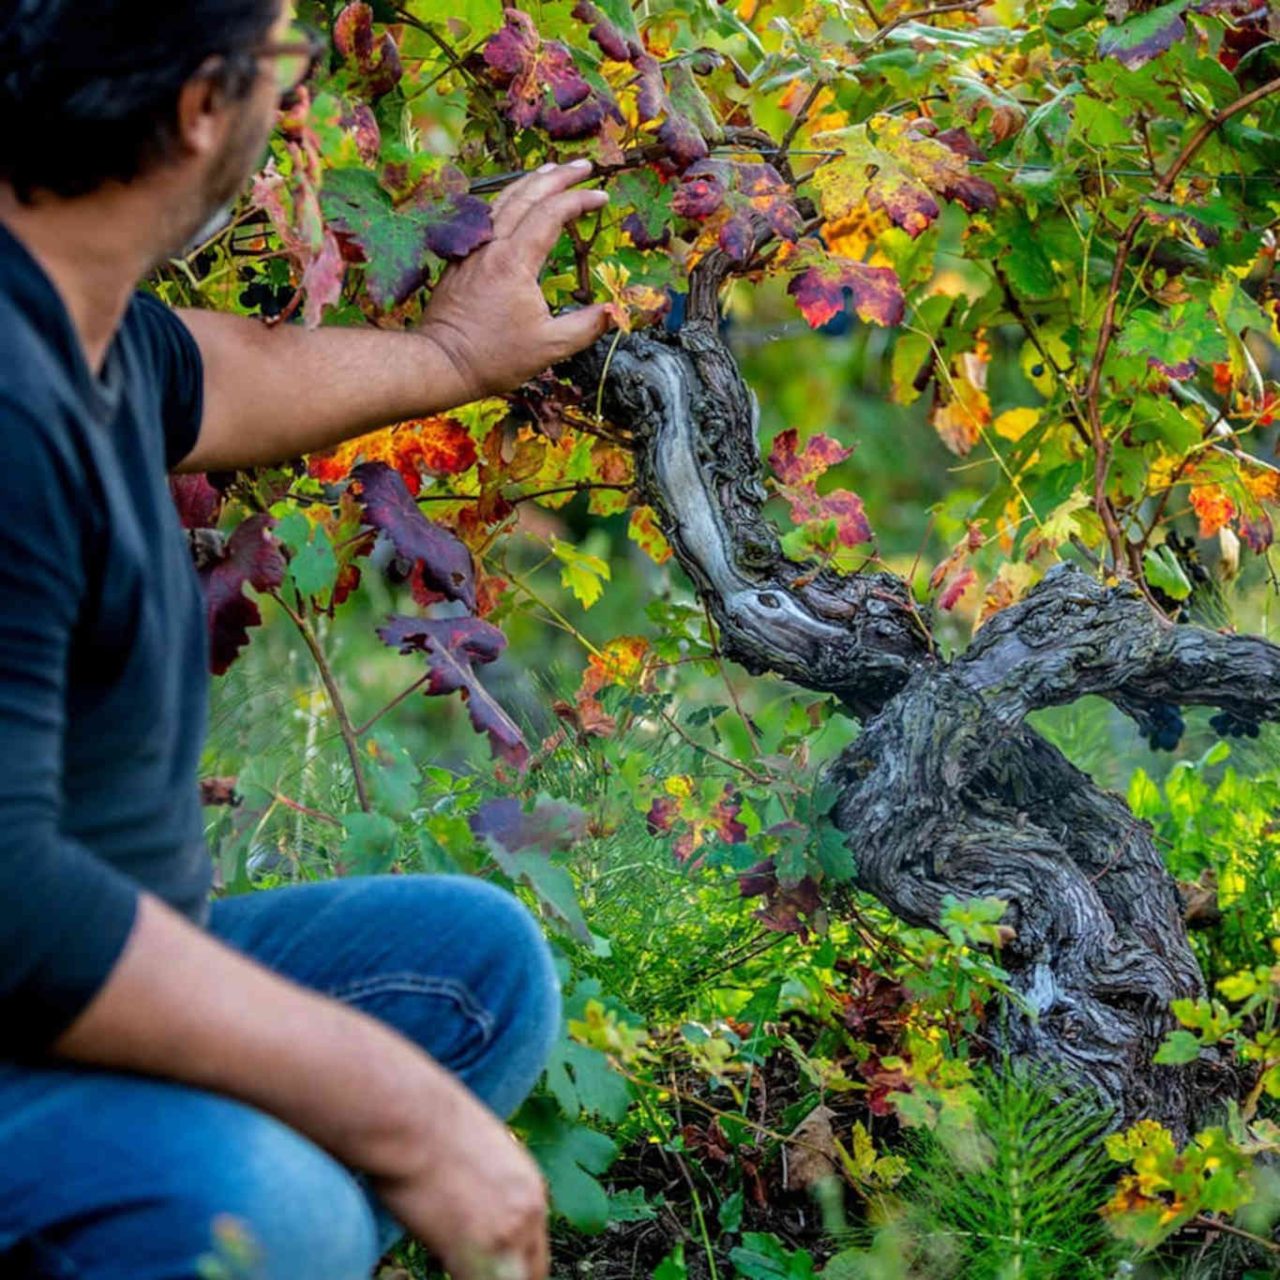
{"label": "man's outstretched bare arm and hand reaching toward the vine", "polygon": [[607,196],[579,164],[508,187],[494,238],[449,268],[416,333],[269,329],[183,311],[205,365],[205,415],[183,471],[282,462],[379,426],[518,387],[608,328],[602,307],[552,316],[539,271],[564,227]]}

